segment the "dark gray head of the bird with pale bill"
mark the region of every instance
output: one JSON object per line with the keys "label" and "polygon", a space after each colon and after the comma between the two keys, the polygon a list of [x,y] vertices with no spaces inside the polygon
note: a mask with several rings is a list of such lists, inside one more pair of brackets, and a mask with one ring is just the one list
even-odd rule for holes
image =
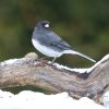
{"label": "dark gray head of the bird with pale bill", "polygon": [[48,21],[40,21],[37,23],[36,25],[37,29],[45,29],[45,31],[49,31],[50,29],[50,23]]}

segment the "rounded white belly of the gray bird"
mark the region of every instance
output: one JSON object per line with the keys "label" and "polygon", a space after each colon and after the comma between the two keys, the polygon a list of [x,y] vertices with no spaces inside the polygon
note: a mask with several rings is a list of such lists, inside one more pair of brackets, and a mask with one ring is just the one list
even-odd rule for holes
{"label": "rounded white belly of the gray bird", "polygon": [[33,38],[32,38],[32,43],[33,43],[34,47],[45,56],[48,56],[48,57],[60,57],[61,56],[60,52],[40,45],[37,40],[35,40]]}

